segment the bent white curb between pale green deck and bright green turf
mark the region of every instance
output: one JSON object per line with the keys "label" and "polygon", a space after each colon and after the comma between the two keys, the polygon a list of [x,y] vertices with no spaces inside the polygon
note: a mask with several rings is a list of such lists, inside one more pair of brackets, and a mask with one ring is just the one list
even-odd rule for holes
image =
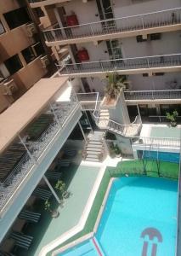
{"label": "bent white curb between pale green deck and bright green turf", "polygon": [[102,214],[105,210],[105,205],[106,205],[106,202],[108,200],[108,196],[110,194],[110,189],[112,187],[112,183],[114,182],[114,180],[116,180],[116,177],[111,177],[110,178],[110,182],[108,184],[108,187],[106,189],[106,192],[105,192],[105,196],[104,196],[104,199],[103,199],[103,202],[102,202],[102,205],[99,209],[99,213],[98,213],[98,217],[96,219],[96,222],[94,224],[94,227],[93,227],[93,232],[90,232],[88,233],[87,235],[85,236],[81,236],[79,238],[77,238],[75,241],[71,241],[70,243],[66,244],[64,247],[61,247],[57,250],[55,250],[51,255],[52,256],[57,256],[58,253],[63,253],[65,252],[66,250],[68,249],[71,249],[71,247],[75,247],[76,245],[82,243],[83,241],[87,241],[88,239],[91,239],[93,238],[94,234],[97,232],[98,230],[98,227],[99,227],[99,222],[100,222],[100,219],[102,217]]}

